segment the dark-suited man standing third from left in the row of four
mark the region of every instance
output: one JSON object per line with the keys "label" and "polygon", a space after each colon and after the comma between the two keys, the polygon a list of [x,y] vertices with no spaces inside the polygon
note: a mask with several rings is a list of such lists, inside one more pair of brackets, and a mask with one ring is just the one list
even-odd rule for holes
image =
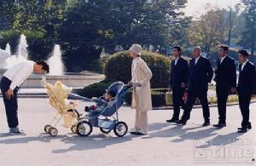
{"label": "dark-suited man standing third from left in the row of four", "polygon": [[218,123],[214,127],[226,126],[226,103],[230,90],[236,93],[236,65],[235,60],[228,55],[229,47],[221,44],[218,46],[218,65],[215,68],[214,81],[216,82],[216,94],[218,98]]}

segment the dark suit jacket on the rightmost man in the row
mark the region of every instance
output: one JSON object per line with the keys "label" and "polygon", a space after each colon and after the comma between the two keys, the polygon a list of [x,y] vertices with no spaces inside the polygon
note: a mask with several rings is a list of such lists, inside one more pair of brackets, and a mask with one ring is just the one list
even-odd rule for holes
{"label": "dark suit jacket on the rightmost man in the row", "polygon": [[241,71],[239,66],[238,94],[255,94],[255,66],[248,61]]}

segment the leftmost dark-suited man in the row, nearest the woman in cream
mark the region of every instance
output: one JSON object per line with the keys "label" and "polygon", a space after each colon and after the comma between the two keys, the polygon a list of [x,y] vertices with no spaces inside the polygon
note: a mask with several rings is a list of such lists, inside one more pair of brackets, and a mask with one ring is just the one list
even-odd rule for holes
{"label": "leftmost dark-suited man in the row, nearest the woman in cream", "polygon": [[[173,47],[171,65],[170,87],[172,88],[173,115],[172,118],[166,120],[169,123],[176,123],[179,120],[180,106],[184,106],[183,94],[188,83],[189,65],[187,60],[181,57],[181,48]],[[183,108],[184,109],[184,108]]]}

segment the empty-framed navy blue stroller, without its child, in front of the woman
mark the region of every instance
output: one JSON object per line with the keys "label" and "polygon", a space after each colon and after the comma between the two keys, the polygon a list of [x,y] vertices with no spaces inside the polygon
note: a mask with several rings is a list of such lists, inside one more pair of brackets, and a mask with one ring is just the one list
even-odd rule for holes
{"label": "empty-framed navy blue stroller, without its child, in front of the woman", "polygon": [[[118,109],[125,102],[125,94],[130,89],[130,86],[125,86],[122,82],[112,83],[108,90],[114,89],[116,96],[108,101],[108,106],[105,106],[100,111],[90,110],[84,117],[79,118],[77,125],[77,134],[80,136],[88,136],[92,132],[93,127],[100,128],[102,133],[108,134],[113,130],[113,133],[119,137],[126,135],[128,126],[125,122],[119,121]],[[98,102],[96,100],[90,100]]]}

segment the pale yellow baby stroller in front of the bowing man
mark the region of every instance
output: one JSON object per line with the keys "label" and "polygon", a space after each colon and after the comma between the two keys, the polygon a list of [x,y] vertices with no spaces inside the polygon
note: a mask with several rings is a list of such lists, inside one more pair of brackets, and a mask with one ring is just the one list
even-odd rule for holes
{"label": "pale yellow baby stroller in front of the bowing man", "polygon": [[47,83],[45,77],[43,77],[41,83],[49,95],[49,105],[53,106],[57,111],[51,122],[44,126],[44,131],[51,136],[58,135],[58,130],[55,126],[63,119],[62,126],[70,128],[71,131],[76,134],[77,123],[80,117],[79,112],[75,109],[78,106],[78,102],[67,102],[67,96],[72,89],[68,88],[60,81],[56,82],[54,85]]}

